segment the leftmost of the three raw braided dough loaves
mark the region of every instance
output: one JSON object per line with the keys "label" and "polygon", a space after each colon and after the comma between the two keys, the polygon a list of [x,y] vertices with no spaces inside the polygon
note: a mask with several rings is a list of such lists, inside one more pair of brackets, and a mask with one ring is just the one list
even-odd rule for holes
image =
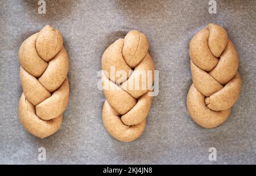
{"label": "leftmost of the three raw braided dough loaves", "polygon": [[61,127],[62,113],[68,105],[68,54],[63,37],[46,25],[28,37],[19,49],[19,119],[31,134],[46,138]]}

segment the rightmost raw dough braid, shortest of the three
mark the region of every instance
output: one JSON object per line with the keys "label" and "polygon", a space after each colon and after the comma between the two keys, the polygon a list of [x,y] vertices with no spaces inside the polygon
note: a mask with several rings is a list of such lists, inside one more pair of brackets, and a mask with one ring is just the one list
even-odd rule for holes
{"label": "rightmost raw dough braid, shortest of the three", "polygon": [[187,95],[188,113],[202,127],[221,125],[241,89],[237,51],[224,28],[208,24],[192,38],[189,56],[193,84]]}

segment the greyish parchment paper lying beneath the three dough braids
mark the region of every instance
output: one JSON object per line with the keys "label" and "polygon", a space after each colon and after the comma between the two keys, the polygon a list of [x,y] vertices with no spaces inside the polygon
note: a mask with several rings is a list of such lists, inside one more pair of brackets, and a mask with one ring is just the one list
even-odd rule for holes
{"label": "greyish parchment paper lying beneath the three dough braids", "polygon": [[[256,1],[38,1],[0,0],[0,164],[256,164]],[[228,32],[240,56],[240,98],[228,120],[206,130],[192,121],[185,104],[191,80],[188,44],[208,23]],[[20,44],[46,24],[59,29],[69,54],[69,105],[61,129],[39,139],[18,119],[22,94]],[[128,31],[142,31],[159,70],[141,138],[122,143],[101,119],[105,97],[97,89],[102,53]],[[38,149],[46,148],[46,161]],[[209,148],[217,161],[209,161]]]}

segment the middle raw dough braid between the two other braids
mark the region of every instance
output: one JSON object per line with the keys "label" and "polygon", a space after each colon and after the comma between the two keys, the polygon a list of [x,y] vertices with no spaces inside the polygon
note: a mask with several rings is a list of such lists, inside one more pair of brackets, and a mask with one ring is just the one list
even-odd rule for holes
{"label": "middle raw dough braid between the two other braids", "polygon": [[[102,110],[104,126],[117,140],[135,140],[144,131],[152,102],[148,91],[154,82],[155,67],[148,54],[147,37],[141,32],[130,31],[124,39],[119,38],[105,50],[101,66],[105,71],[102,72],[102,85],[108,87],[103,88],[106,97]],[[111,67],[115,69],[114,76],[110,76]],[[117,72],[121,70],[126,75],[118,77]],[[147,84],[151,83],[146,88],[142,87],[142,75]],[[135,88],[137,80],[139,87]]]}

